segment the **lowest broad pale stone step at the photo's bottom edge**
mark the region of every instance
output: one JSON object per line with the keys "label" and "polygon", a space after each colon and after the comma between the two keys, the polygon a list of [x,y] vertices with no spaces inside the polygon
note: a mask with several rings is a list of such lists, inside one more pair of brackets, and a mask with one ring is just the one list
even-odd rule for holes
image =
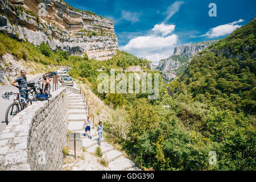
{"label": "lowest broad pale stone step at the photo's bottom edge", "polygon": [[109,168],[112,171],[125,171],[127,169],[133,168],[134,166],[135,163],[125,158],[124,156],[120,156],[119,158],[109,163]]}

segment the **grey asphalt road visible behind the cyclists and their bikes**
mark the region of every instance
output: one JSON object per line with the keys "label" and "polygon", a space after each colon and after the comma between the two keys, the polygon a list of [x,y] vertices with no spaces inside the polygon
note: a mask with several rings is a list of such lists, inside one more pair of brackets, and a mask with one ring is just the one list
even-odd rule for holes
{"label": "grey asphalt road visible behind the cyclists and their bikes", "polygon": [[[31,77],[27,77],[27,81],[38,81],[39,78],[41,77],[42,78],[42,75],[43,74],[38,74],[38,75],[35,75],[35,76],[31,76]],[[60,82],[59,82],[60,84]],[[52,86],[52,82],[51,82],[51,86]],[[4,100],[2,98],[2,93],[4,91],[9,91],[9,92],[18,92],[19,89],[14,87],[13,85],[5,85],[5,86],[0,86],[0,134],[2,133],[2,131],[5,129],[6,127],[6,123],[5,123],[5,113],[6,113],[6,110],[7,110],[7,107],[13,103],[13,97],[14,96],[10,96],[10,100]],[[52,92],[52,90],[51,90]],[[32,98],[32,96],[30,95],[29,96],[32,100],[32,104],[33,102],[35,102]]]}

